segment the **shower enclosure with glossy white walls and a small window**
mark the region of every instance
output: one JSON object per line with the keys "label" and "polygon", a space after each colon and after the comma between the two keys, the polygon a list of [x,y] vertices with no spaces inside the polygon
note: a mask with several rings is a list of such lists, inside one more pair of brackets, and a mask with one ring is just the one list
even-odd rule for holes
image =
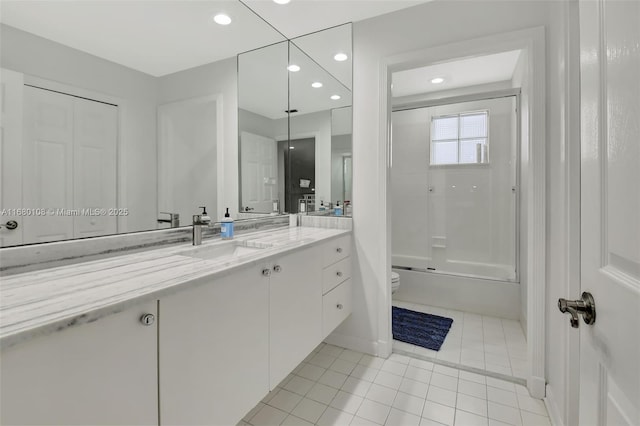
{"label": "shower enclosure with glossy white walls and a small window", "polygon": [[394,108],[394,267],[518,281],[517,101]]}

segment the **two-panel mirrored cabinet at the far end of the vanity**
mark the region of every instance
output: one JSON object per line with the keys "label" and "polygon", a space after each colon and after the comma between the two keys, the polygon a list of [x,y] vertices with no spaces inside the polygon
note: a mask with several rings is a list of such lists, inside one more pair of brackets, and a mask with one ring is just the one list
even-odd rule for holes
{"label": "two-panel mirrored cabinet at the far end of the vanity", "polygon": [[345,24],[238,55],[244,214],[350,213],[351,45]]}

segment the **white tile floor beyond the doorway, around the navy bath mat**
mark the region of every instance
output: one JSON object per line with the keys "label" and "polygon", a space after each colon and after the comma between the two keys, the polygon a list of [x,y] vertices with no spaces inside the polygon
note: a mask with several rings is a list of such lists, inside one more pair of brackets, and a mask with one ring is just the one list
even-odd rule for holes
{"label": "white tile floor beyond the doorway, around the navy bath mat", "polygon": [[527,340],[519,321],[396,300],[393,306],[453,318],[451,330],[440,351],[396,340],[393,342],[394,350],[507,376],[527,377]]}

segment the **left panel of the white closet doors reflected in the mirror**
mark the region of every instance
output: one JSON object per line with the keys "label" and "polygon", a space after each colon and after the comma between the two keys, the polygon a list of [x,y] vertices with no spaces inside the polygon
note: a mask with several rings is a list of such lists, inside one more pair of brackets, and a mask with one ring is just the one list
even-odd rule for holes
{"label": "left panel of the white closet doors reflected in the mirror", "polygon": [[25,243],[73,238],[73,100],[24,86],[23,207],[53,209],[22,218]]}

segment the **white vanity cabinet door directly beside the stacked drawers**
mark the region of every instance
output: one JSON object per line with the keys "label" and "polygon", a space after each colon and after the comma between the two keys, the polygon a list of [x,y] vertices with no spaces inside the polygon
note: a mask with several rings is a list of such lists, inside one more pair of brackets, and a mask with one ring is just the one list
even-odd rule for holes
{"label": "white vanity cabinet door directly beside the stacked drawers", "polygon": [[274,263],[269,293],[271,389],[322,341],[321,259],[321,248],[312,247]]}

